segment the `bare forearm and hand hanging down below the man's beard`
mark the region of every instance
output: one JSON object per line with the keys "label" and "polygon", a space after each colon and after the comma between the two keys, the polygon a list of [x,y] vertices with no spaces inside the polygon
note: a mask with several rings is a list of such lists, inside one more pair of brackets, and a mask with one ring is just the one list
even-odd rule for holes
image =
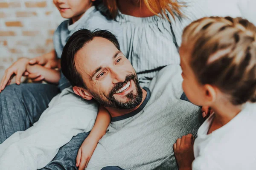
{"label": "bare forearm and hand hanging down below the man's beard", "polygon": [[110,121],[110,114],[103,106],[100,105],[93,129],[91,130],[89,136],[84,140],[76,157],[76,166],[79,166],[79,170],[84,170],[84,168],[87,167],[99,139],[105,135]]}

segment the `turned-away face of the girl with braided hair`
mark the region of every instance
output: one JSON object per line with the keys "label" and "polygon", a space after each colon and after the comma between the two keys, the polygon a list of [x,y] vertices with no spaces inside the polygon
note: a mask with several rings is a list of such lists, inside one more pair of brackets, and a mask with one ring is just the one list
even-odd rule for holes
{"label": "turned-away face of the girl with braided hair", "polygon": [[182,88],[190,102],[198,106],[208,105],[207,87],[201,85],[189,64],[190,54],[184,47],[180,46],[180,66],[182,68],[183,83]]}

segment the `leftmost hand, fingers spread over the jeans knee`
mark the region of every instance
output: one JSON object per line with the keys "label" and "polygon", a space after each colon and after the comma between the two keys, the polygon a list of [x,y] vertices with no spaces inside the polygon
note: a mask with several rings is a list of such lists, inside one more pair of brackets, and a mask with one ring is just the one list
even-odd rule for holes
{"label": "leftmost hand, fingers spread over the jeans knee", "polygon": [[6,69],[3,79],[0,83],[0,92],[9,85],[12,78],[16,75],[16,84],[20,84],[20,79],[22,75],[28,75],[26,71],[26,66],[28,65],[29,59],[20,58],[14,62],[9,68]]}

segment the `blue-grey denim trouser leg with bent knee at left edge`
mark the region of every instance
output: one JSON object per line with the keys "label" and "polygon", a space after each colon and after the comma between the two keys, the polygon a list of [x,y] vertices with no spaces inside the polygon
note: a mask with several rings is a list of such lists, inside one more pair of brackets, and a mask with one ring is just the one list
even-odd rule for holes
{"label": "blue-grey denim trouser leg with bent knee at left edge", "polygon": [[9,85],[0,93],[0,144],[13,133],[26,130],[38,121],[57,86],[46,84]]}

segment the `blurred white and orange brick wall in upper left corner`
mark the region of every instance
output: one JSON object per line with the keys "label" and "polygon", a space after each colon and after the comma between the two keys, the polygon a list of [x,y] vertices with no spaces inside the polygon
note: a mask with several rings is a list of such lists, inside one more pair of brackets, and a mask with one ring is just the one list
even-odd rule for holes
{"label": "blurred white and orange brick wall in upper left corner", "polygon": [[0,0],[0,79],[19,57],[51,51],[53,32],[63,20],[52,0]]}

